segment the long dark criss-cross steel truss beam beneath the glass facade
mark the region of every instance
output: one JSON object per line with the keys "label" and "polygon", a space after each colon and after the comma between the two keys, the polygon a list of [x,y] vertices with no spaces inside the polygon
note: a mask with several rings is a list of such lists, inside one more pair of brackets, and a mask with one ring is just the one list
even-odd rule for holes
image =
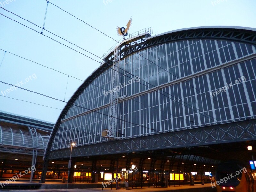
{"label": "long dark criss-cross steel truss beam beneath the glass facade", "polygon": [[[248,140],[256,140],[255,119],[79,146],[73,149],[72,157],[184,148]],[[51,151],[49,159],[68,158],[69,155],[69,149],[59,149]]]}

